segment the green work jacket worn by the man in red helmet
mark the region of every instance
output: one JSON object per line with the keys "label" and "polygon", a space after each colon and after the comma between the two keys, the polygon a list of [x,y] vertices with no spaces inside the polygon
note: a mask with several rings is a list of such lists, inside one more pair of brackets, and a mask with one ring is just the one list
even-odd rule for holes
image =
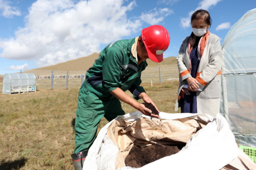
{"label": "green work jacket worn by the man in red helmet", "polygon": [[119,40],[109,44],[102,50],[98,60],[86,73],[86,83],[91,84],[90,92],[100,99],[109,99],[114,96],[110,91],[121,88],[130,90],[134,99],[145,92],[141,84],[141,72],[148,65],[146,60],[139,65],[132,56],[131,47],[135,38]]}

